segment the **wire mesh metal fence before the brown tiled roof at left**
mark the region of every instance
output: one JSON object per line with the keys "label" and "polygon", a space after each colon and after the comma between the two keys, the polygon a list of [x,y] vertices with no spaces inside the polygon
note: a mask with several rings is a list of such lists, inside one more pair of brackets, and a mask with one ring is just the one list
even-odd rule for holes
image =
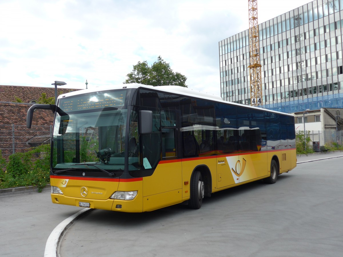
{"label": "wire mesh metal fence before the brown tiled roof at left", "polygon": [[50,144],[52,126],[32,126],[27,129],[26,125],[0,125],[0,150],[2,156],[8,156],[16,152],[26,152],[33,147]]}

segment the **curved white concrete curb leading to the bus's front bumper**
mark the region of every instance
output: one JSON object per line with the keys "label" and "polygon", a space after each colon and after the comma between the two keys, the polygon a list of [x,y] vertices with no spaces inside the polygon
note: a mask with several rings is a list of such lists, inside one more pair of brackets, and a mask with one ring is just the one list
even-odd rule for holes
{"label": "curved white concrete curb leading to the bus's front bumper", "polygon": [[44,256],[59,257],[60,244],[64,234],[70,228],[70,226],[81,217],[87,215],[95,209],[84,208],[83,210],[75,213],[69,218],[63,220],[58,226],[51,232],[45,245]]}

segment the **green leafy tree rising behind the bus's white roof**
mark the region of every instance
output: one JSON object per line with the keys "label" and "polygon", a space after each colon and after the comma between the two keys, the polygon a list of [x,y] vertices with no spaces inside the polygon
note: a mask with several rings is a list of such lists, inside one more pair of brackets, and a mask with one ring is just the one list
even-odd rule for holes
{"label": "green leafy tree rising behind the bus's white roof", "polygon": [[133,65],[132,72],[128,73],[126,83],[139,83],[152,86],[168,86],[176,85],[187,87],[187,77],[179,72],[174,72],[169,63],[164,61],[161,56],[158,56],[157,61],[150,67],[147,61],[138,62]]}

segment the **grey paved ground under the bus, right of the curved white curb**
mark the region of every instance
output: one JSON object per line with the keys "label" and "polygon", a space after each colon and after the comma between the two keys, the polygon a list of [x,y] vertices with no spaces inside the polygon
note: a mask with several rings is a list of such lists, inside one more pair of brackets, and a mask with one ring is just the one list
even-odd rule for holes
{"label": "grey paved ground under the bus, right of the curved white curb", "polygon": [[95,210],[67,231],[60,254],[341,256],[342,167],[343,158],[300,163],[273,185],[257,181],[215,193],[199,210]]}

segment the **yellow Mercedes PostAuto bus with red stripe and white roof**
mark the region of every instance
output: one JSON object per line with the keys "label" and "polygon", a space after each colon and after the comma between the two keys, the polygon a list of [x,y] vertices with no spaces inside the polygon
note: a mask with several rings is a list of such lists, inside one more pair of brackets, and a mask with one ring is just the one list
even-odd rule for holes
{"label": "yellow Mercedes PostAuto bus with red stripe and white roof", "polygon": [[55,204],[152,211],[296,166],[294,116],[179,86],[123,84],[63,94],[51,140]]}

